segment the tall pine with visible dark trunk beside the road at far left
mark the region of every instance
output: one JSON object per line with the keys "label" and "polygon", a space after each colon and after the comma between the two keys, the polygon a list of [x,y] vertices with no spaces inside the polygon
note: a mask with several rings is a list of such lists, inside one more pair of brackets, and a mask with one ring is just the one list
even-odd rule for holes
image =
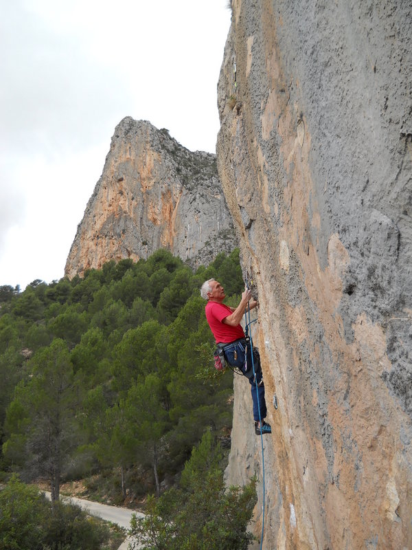
{"label": "tall pine with visible dark trunk beside the road at far left", "polygon": [[78,444],[76,412],[80,384],[73,375],[67,345],[54,340],[31,360],[32,377],[16,386],[5,429],[5,456],[24,465],[29,477],[49,480],[52,500],[71,451]]}

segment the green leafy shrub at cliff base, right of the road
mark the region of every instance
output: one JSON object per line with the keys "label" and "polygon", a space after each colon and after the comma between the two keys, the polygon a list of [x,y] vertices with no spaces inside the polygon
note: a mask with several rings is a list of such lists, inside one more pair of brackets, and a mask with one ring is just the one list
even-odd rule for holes
{"label": "green leafy shrub at cliff base, right of the road", "polygon": [[247,550],[256,503],[255,480],[226,489],[222,450],[208,430],[182,474],[182,487],[148,499],[146,517],[133,516],[130,534],[143,550]]}

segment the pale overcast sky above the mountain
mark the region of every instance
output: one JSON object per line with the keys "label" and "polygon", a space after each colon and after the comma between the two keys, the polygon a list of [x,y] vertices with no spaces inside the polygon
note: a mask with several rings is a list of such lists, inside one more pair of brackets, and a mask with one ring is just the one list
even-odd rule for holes
{"label": "pale overcast sky above the mountain", "polygon": [[64,276],[115,126],[215,152],[228,0],[0,0],[0,285]]}

